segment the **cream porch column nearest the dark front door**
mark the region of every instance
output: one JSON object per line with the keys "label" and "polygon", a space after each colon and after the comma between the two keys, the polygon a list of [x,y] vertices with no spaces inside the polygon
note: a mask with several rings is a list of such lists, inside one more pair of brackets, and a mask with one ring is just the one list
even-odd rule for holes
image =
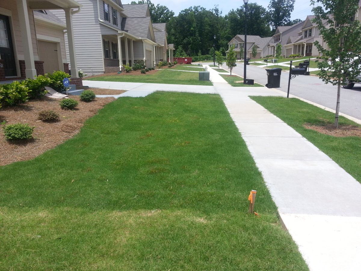
{"label": "cream porch column nearest the dark front door", "polygon": [[19,14],[21,39],[24,44],[25,76],[26,78],[34,78],[34,76],[36,76],[36,69],[34,63],[34,52],[32,50],[29,12],[26,0],[17,0],[16,5]]}

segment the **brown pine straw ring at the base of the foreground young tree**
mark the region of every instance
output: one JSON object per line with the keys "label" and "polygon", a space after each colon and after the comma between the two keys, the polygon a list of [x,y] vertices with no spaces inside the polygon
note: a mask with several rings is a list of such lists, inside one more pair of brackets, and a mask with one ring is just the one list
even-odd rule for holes
{"label": "brown pine straw ring at the base of the foreground young tree", "polygon": [[333,124],[317,126],[306,123],[303,126],[306,129],[312,129],[319,133],[334,137],[361,137],[361,128],[354,125],[340,125],[339,128],[335,128]]}

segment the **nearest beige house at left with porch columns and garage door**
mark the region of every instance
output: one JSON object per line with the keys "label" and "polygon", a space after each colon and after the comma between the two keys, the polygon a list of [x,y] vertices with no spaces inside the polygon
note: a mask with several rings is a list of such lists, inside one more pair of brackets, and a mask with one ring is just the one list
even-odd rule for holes
{"label": "nearest beige house at left with porch columns and garage door", "polygon": [[[63,31],[67,30],[73,47],[73,14],[81,7],[74,0],[1,1],[0,81],[33,78],[53,69],[67,68]],[[44,9],[62,10],[66,23],[51,12],[38,11]],[[51,52],[55,48],[57,52]],[[74,69],[72,83],[81,84],[81,79],[76,78],[77,61],[73,50],[69,51],[69,61]]]}

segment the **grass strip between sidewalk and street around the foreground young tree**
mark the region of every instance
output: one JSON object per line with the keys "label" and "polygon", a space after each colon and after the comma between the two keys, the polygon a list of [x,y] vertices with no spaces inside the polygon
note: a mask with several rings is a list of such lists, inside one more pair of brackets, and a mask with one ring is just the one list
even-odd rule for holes
{"label": "grass strip between sidewalk and street around the foreground young tree", "polygon": [[[313,125],[333,124],[335,114],[323,110],[299,99],[281,97],[251,97],[261,106],[290,125],[293,129],[307,138],[321,151],[345,171],[361,182],[361,138],[360,137],[334,137],[321,134],[314,130],[304,128],[305,123]],[[335,97],[336,100],[336,97]],[[355,122],[340,116],[340,125],[355,125]]]}

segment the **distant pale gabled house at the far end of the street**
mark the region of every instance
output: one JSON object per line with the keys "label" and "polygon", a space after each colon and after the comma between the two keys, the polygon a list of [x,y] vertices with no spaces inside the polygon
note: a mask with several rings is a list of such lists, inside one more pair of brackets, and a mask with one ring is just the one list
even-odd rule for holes
{"label": "distant pale gabled house at the far end of the street", "polygon": [[[268,43],[270,42],[271,37],[261,38],[260,36],[247,35],[247,57],[249,58],[261,58],[268,55]],[[237,59],[243,59],[244,54],[240,55],[240,48],[244,48],[244,35],[236,35],[231,41],[228,43],[228,47],[231,48],[232,44],[234,44],[234,51],[236,52]],[[252,47],[256,46],[257,48],[257,56],[252,57]],[[229,50],[226,51],[226,55]]]}

